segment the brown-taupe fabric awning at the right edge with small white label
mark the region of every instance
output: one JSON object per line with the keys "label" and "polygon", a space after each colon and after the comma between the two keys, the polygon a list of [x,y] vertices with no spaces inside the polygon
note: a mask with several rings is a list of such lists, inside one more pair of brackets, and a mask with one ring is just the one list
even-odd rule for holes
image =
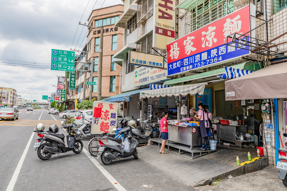
{"label": "brown-taupe fabric awning at the right edge with small white label", "polygon": [[287,62],[225,81],[225,100],[287,97]]}

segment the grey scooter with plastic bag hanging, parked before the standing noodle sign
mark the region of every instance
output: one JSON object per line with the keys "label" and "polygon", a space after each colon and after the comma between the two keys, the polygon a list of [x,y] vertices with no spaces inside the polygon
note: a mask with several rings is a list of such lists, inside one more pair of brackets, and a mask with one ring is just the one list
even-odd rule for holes
{"label": "grey scooter with plastic bag hanging, parked before the standing noodle sign", "polygon": [[111,164],[113,160],[117,160],[120,158],[127,158],[131,155],[134,156],[135,159],[138,159],[137,156],[137,139],[133,137],[131,132],[131,127],[125,127],[124,129],[119,131],[120,135],[124,135],[124,138],[128,140],[130,143],[130,150],[124,151],[121,147],[122,139],[121,138],[111,138],[104,136],[103,138],[99,138],[98,143],[98,156],[97,158],[101,158],[103,164]]}

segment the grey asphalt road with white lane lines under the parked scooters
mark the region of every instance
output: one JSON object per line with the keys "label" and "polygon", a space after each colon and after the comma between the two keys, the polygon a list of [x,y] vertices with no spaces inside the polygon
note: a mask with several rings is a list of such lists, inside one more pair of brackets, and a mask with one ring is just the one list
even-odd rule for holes
{"label": "grey asphalt road with white lane lines under the parked scooters", "polygon": [[[0,191],[195,190],[141,160],[140,153],[138,160],[131,156],[104,165],[88,153],[89,139],[83,140],[85,149],[80,154],[69,151],[40,160],[34,148],[38,136],[35,133],[31,137],[34,127],[44,123],[47,130],[51,124],[60,126],[61,120],[44,109],[19,110],[19,119],[15,121],[0,119]],[[64,133],[63,129],[60,131]]]}

